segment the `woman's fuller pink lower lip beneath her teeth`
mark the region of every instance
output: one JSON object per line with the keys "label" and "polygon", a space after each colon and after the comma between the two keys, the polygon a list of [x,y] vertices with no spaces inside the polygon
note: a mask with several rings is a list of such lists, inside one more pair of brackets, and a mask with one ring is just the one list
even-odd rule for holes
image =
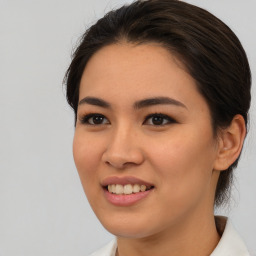
{"label": "woman's fuller pink lower lip beneath her teeth", "polygon": [[116,206],[130,206],[146,198],[150,193],[152,193],[153,190],[154,189],[150,189],[144,192],[134,193],[130,195],[117,195],[112,194],[108,192],[108,190],[104,189],[104,194],[106,199]]}

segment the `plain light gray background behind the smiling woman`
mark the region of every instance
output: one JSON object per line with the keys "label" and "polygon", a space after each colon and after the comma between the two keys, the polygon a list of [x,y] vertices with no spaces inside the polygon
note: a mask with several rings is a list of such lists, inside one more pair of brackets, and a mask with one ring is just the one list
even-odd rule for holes
{"label": "plain light gray background behind the smiling woman", "polygon": [[[62,79],[84,29],[111,0],[0,0],[0,255],[82,256],[112,238],[84,196]],[[256,75],[256,1],[190,0],[226,22]],[[256,93],[229,215],[256,251]]]}

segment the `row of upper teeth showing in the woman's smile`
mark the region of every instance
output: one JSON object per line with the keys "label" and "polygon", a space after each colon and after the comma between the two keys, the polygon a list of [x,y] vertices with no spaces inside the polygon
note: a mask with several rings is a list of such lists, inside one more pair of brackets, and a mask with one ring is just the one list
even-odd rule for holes
{"label": "row of upper teeth showing in the woman's smile", "polygon": [[108,185],[108,191],[113,194],[121,195],[130,195],[132,193],[139,193],[144,192],[147,190],[146,185],[139,185],[139,184],[126,184],[126,185],[120,185],[120,184],[110,184]]}

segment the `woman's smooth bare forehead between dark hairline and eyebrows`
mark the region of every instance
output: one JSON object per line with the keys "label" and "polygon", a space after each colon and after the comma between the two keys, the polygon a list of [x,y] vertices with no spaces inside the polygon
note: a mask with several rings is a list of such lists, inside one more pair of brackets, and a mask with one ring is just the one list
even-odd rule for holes
{"label": "woman's smooth bare forehead between dark hairline and eyebrows", "polygon": [[82,75],[79,98],[86,96],[122,103],[154,96],[204,101],[181,62],[157,44],[123,43],[100,49]]}

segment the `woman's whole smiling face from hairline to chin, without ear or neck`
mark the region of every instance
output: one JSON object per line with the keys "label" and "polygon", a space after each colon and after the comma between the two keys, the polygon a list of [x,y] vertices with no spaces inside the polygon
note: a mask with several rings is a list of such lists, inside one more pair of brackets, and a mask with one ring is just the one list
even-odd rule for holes
{"label": "woman's whole smiling face from hairline to chin, without ear or neck", "polygon": [[212,214],[217,143],[209,108],[159,45],[116,44],[92,56],[73,153],[92,209],[117,236],[171,232]]}

